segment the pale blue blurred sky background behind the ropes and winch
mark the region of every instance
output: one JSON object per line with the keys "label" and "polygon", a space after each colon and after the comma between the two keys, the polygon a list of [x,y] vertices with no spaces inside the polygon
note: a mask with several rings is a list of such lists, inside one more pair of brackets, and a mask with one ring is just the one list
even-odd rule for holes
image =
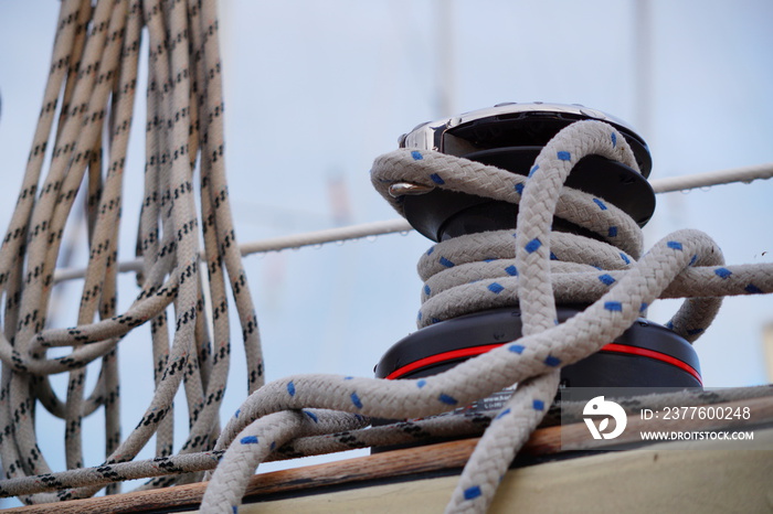
{"label": "pale blue blurred sky background behind the ropes and winch", "polygon": [[[40,110],[57,10],[54,0],[0,0],[3,229]],[[373,158],[420,122],[502,101],[579,103],[627,120],[649,143],[652,179],[771,162],[770,20],[766,0],[223,0],[226,163],[237,237],[395,217],[370,185]],[[141,94],[135,113],[121,260],[134,257],[141,195]],[[711,235],[729,264],[770,263],[771,199],[773,181],[659,195],[645,246],[690,227]],[[71,233],[70,266],[85,265],[85,233]],[[267,378],[372,376],[386,349],[415,330],[415,264],[428,246],[410,233],[247,257]],[[81,283],[59,287],[55,325],[73,324]],[[121,286],[123,310],[136,288],[130,276]],[[677,304],[660,301],[649,318],[663,323]],[[770,381],[762,328],[771,321],[773,297],[727,299],[696,343],[705,385]],[[239,333],[234,326],[223,418],[246,394]],[[150,355],[148,329],[121,343],[125,435],[150,398]],[[65,381],[55,377],[59,390]],[[184,401],[179,405],[178,446],[187,431]],[[85,422],[93,431],[88,465],[103,458],[100,418]],[[61,421],[40,415],[38,424],[46,459],[63,469]]]}

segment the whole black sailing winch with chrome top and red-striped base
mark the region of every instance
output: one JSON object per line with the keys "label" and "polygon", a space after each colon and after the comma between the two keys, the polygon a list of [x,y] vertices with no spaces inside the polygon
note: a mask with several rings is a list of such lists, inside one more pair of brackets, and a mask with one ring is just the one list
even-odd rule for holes
{"label": "whole black sailing winch with chrome top and red-striped base", "polygon": [[[502,104],[421,125],[401,137],[400,146],[442,151],[527,175],[539,151],[555,133],[584,119],[614,126],[631,146],[639,172],[589,156],[575,165],[565,185],[613,203],[644,226],[655,210],[655,193],[647,182],[652,169],[649,150],[625,122],[594,109],[541,103]],[[441,189],[405,194],[402,205],[411,225],[436,242],[515,228],[518,213],[513,204]],[[552,228],[599,238],[563,219],[555,218]],[[568,320],[584,307],[558,306],[559,321]],[[445,320],[394,344],[375,366],[375,376],[400,379],[434,375],[520,335],[518,308],[490,309]],[[600,352],[563,366],[561,383],[565,387],[702,386],[692,346],[671,330],[642,318]],[[509,393],[504,392],[494,403],[507,396]]]}

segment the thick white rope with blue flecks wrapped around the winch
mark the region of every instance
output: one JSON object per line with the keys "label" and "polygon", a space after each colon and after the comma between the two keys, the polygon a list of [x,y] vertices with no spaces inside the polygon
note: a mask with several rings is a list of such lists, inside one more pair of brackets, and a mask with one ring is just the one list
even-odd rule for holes
{"label": "thick white rope with blue flecks wrapped around the winch", "polygon": [[[483,512],[515,453],[548,410],[558,386],[558,370],[617,338],[669,287],[670,295],[679,295],[679,290],[674,290],[679,280],[684,289],[695,292],[689,285],[695,277],[678,279],[682,271],[702,268],[693,275],[711,282],[713,290],[721,290],[722,295],[773,291],[773,266],[724,267],[719,248],[697,231],[671,234],[636,261],[642,237],[628,216],[600,199],[562,189],[572,167],[592,153],[636,169],[624,139],[612,127],[595,121],[576,122],[562,130],[542,150],[528,179],[437,152],[399,150],[377,159],[373,182],[398,211],[400,199],[391,200],[386,193],[389,185],[398,181],[520,204],[515,238],[511,233],[488,233],[444,242],[427,251],[420,274],[426,279],[423,293],[428,300],[422,307],[419,323],[520,301],[523,338],[421,379],[299,375],[264,386],[229,421],[218,441],[216,450],[227,450],[212,476],[202,511],[230,513],[236,508],[246,485],[246,479],[236,476],[252,473],[272,447],[285,441],[275,431],[276,413],[318,407],[382,418],[425,417],[468,405],[518,383],[516,393],[465,467],[447,507],[447,512]],[[553,214],[616,246],[551,233]],[[498,246],[490,239],[509,244]],[[561,279],[553,285],[551,264],[557,259],[562,263],[553,271]],[[582,261],[563,263],[572,259]],[[616,270],[600,271],[599,264]],[[580,291],[583,285],[595,287]],[[559,295],[554,295],[554,289]],[[587,289],[593,293],[589,295]],[[589,296],[594,297],[591,307],[557,324],[557,298],[585,302],[591,301]],[[669,324],[688,341],[695,341],[718,307],[717,298],[690,298]],[[321,418],[316,416],[316,421]],[[292,430],[300,430],[300,424],[308,425],[309,420],[308,416],[296,415],[288,422],[293,424]]]}

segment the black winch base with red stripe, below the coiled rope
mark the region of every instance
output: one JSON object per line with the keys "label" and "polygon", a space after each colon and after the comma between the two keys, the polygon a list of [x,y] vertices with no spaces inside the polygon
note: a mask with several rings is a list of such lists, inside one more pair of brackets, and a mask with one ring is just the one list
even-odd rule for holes
{"label": "black winch base with red stripe, below the coiled rope", "polygon": [[[581,307],[559,307],[559,322]],[[521,336],[517,308],[490,309],[425,326],[394,344],[375,366],[378,378],[419,378],[449,370]],[[639,318],[596,354],[561,368],[565,387],[701,387],[691,344]]]}

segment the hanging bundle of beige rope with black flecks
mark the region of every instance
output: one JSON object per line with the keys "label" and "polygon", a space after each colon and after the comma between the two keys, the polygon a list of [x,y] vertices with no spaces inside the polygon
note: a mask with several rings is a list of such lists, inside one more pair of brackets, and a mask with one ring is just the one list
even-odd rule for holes
{"label": "hanging bundle of beige rope with black flecks", "polygon": [[[129,170],[126,150],[142,33],[149,47],[146,193],[137,243],[142,267],[135,302],[128,311],[118,313],[118,226],[124,173]],[[190,435],[177,456],[180,467],[176,470],[182,474],[149,485],[201,476],[184,473],[205,469],[202,461],[211,461],[212,457],[198,452],[211,450],[219,432],[219,408],[229,370],[229,289],[243,329],[248,388],[252,392],[263,384],[256,318],[229,206],[222,114],[213,1],[61,3],[43,108],[17,210],[0,249],[0,298],[4,301],[0,335],[3,472],[7,481],[32,478],[47,484],[31,493],[57,490],[23,495],[24,502],[88,496],[104,486],[104,482],[65,485],[67,473],[77,473],[83,467],[82,419],[103,406],[105,463],[92,471],[107,479],[120,478],[112,464],[134,459],[153,435],[157,458],[171,458],[173,398],[183,382]],[[47,147],[53,151],[41,183]],[[197,170],[201,215],[195,212],[193,199]],[[89,259],[78,314],[73,328],[47,329],[63,229],[82,188],[86,190]],[[207,287],[214,312],[210,320],[212,334],[205,319],[199,265],[202,235]],[[172,326],[168,326],[166,314],[169,306],[174,312]],[[153,341],[156,389],[137,428],[124,437],[118,417],[116,347],[129,330],[147,322]],[[46,355],[54,346],[71,351],[57,357]],[[94,390],[86,394],[85,366],[95,360],[102,360],[102,370]],[[56,395],[47,377],[63,372],[70,373],[66,398]],[[39,404],[66,424],[66,465],[72,471],[60,479],[53,478],[38,448],[34,418]],[[199,457],[188,458],[191,453]],[[133,465],[124,464],[128,475],[134,473]],[[3,492],[4,482],[0,481]]]}

